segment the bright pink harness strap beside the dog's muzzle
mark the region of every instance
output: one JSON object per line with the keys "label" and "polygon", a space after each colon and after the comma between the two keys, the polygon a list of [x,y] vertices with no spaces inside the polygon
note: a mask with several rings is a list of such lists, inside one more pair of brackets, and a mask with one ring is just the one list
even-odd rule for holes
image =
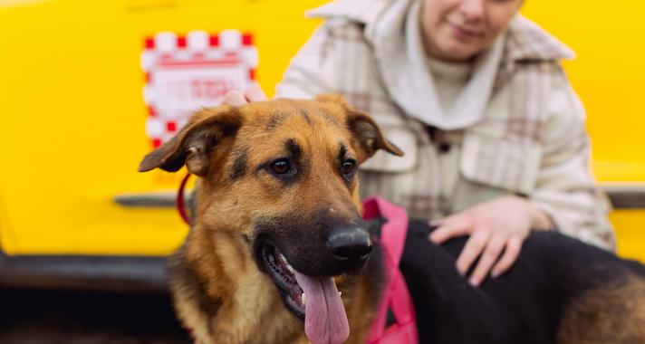
{"label": "bright pink harness strap beside the dog's muzzle", "polygon": [[[368,344],[418,343],[417,321],[408,285],[399,270],[403,245],[408,232],[408,215],[405,210],[387,201],[372,197],[363,203],[363,219],[384,217],[388,220],[380,230],[386,269],[386,283],[380,296],[379,313],[371,324]],[[385,328],[388,309],[394,314],[395,324]]]}

